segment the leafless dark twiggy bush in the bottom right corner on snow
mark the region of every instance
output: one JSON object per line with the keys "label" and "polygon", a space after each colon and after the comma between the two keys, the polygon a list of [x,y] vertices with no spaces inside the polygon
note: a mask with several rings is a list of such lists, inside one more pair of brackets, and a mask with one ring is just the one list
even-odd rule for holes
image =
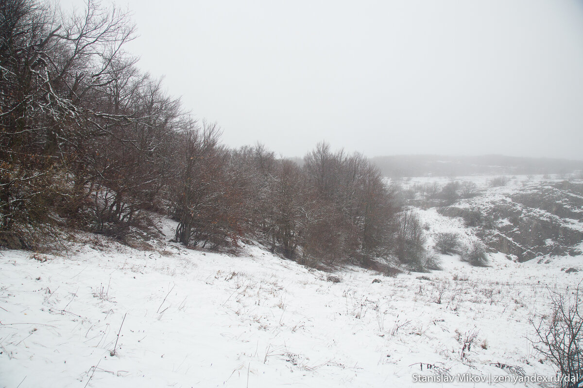
{"label": "leafless dark twiggy bush in the bottom right corner on snow", "polygon": [[533,346],[559,369],[559,386],[583,385],[583,293],[580,286],[564,294],[550,291],[552,313],[534,324],[538,341]]}

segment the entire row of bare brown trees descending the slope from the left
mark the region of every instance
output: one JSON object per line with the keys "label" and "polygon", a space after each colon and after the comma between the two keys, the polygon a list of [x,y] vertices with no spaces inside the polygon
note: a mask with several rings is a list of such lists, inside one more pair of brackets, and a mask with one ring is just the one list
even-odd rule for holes
{"label": "entire row of bare brown trees descending the slope from the left", "polygon": [[264,145],[228,148],[125,52],[127,14],[0,2],[0,244],[59,228],[125,239],[178,222],[190,247],[259,241],[295,259],[386,257],[399,207],[361,154],[320,143],[303,166]]}

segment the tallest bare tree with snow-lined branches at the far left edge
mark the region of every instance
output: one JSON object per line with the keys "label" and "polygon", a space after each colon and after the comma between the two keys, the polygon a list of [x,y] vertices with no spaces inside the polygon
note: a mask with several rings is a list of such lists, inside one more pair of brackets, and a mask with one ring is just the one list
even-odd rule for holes
{"label": "tallest bare tree with snow-lined branches at the far left edge", "polygon": [[76,146],[87,143],[90,118],[106,114],[95,93],[113,80],[133,26],[93,2],[68,18],[44,2],[8,0],[0,15],[0,233],[13,236],[68,208]]}

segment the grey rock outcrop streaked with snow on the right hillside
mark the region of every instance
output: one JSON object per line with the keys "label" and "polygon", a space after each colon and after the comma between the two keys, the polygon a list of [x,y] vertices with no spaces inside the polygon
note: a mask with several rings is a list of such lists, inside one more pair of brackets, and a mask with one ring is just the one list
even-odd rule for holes
{"label": "grey rock outcrop streaked with snow on the right hillside", "polygon": [[487,192],[438,211],[463,218],[491,250],[519,261],[581,254],[583,184],[526,186],[502,195]]}

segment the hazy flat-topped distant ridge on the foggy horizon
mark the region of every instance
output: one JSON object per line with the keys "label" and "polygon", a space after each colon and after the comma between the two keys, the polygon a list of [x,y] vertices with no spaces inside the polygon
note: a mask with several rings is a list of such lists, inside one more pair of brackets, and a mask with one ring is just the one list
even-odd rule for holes
{"label": "hazy flat-topped distant ridge on the foggy horizon", "polygon": [[388,177],[566,174],[583,170],[583,161],[504,155],[392,155],[371,160]]}

